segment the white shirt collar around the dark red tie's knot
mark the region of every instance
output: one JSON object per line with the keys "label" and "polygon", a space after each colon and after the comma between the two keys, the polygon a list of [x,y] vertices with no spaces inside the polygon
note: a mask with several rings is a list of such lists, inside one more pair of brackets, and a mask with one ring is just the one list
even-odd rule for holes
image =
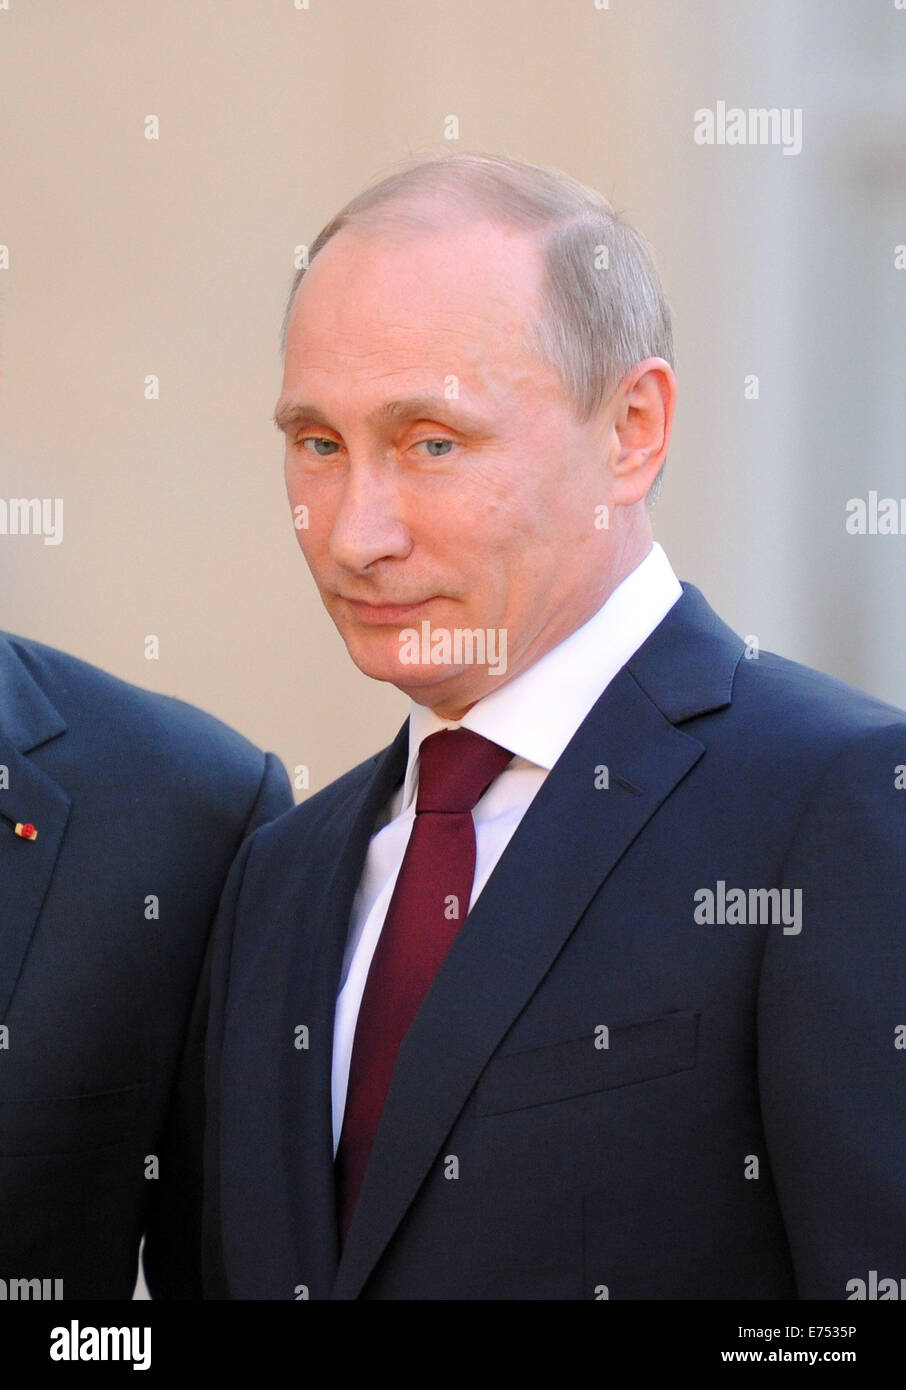
{"label": "white shirt collar around the dark red tie's knot", "polygon": [[654,542],[586,623],[461,720],[442,719],[413,702],[402,806],[415,798],[421,742],[440,728],[471,728],[550,771],[600,694],[681,595],[670,560]]}

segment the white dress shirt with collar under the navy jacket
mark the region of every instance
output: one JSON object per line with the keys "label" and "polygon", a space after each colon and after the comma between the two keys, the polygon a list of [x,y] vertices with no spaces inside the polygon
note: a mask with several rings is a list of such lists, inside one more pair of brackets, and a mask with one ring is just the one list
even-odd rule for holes
{"label": "white dress shirt with collar under the navy jacket", "polygon": [[406,778],[368,845],[349,924],[333,1016],[333,1152],[343,1125],[359,1008],[415,819],[421,741],[440,728],[463,727],[510,748],[514,755],[472,810],[477,853],[471,909],[577,728],[681,594],[667,556],[654,542],[582,627],[528,670],[479,699],[461,720],[440,719],[424,705],[411,705]]}

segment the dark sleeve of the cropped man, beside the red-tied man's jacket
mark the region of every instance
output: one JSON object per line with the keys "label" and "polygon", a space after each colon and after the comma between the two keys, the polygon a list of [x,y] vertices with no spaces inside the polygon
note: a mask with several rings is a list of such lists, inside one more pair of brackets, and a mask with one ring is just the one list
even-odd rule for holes
{"label": "dark sleeve of the cropped man, beside the red-tied man's jacket", "polygon": [[[210,933],[186,1027],[182,1059],[171,1099],[167,1130],[161,1143],[161,1176],[156,1184],[145,1232],[142,1264],[151,1298],[192,1300],[218,1297],[206,1291],[203,1279],[203,1197],[204,1197],[204,1069],[211,980],[226,977],[221,969],[232,934],[233,895],[238,892],[252,834],[293,805],[282,763],[267,756],[264,776],[243,828],[243,844],[233,860],[221,905]],[[226,956],[228,959],[228,956]],[[206,1257],[210,1259],[210,1255]],[[217,1277],[214,1276],[214,1286]]]}

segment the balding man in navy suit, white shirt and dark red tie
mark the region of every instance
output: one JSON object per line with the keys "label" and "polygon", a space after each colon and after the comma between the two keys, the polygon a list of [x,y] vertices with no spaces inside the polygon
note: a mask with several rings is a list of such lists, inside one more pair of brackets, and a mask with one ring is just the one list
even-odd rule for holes
{"label": "balding man in navy suit, white shirt and dark red tie", "polygon": [[411,710],[225,891],[210,1297],[906,1273],[906,717],[675,580],[674,398],[645,245],[564,175],[421,161],[317,238],[289,499]]}

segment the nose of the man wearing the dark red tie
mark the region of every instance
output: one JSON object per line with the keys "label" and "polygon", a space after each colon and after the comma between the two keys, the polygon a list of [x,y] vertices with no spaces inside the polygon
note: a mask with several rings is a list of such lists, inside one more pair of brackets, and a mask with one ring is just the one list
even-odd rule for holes
{"label": "nose of the man wearing the dark red tie", "polygon": [[331,530],[336,564],[359,573],[375,560],[404,559],[411,537],[402,503],[399,485],[385,467],[353,463]]}

